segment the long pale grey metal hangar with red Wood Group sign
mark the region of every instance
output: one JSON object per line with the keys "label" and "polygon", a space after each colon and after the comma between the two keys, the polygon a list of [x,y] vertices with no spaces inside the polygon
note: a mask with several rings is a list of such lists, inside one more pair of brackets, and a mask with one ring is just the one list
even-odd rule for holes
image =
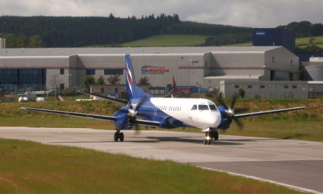
{"label": "long pale grey metal hangar with red Wood Group sign", "polygon": [[136,79],[147,76],[152,86],[220,88],[223,80],[298,80],[298,57],[283,46],[122,47],[0,49],[0,86],[17,89],[80,87],[85,75],[121,75],[130,53]]}

